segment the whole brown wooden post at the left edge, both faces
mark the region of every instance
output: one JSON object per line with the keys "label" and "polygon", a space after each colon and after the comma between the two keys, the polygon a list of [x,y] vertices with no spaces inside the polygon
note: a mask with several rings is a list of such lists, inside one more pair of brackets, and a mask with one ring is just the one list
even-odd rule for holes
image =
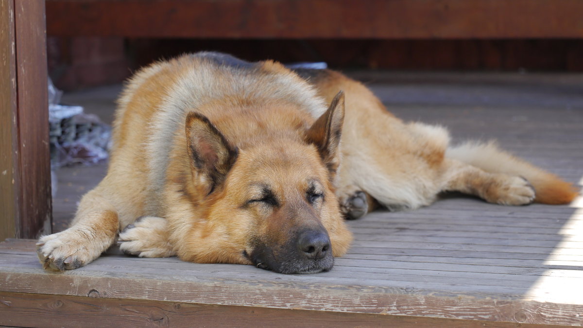
{"label": "whole brown wooden post at the left edge, both faces", "polygon": [[0,0],[0,238],[51,232],[43,0]]}

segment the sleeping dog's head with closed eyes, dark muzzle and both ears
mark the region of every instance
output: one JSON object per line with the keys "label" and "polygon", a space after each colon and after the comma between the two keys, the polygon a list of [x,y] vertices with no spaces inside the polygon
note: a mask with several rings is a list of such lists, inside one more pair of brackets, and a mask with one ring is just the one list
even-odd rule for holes
{"label": "sleeping dog's head with closed eyes, dark muzzle and both ears", "polygon": [[237,149],[210,121],[187,117],[192,180],[206,194],[178,254],[206,263],[254,264],[279,273],[330,270],[352,239],[333,179],[340,159],[343,94],[301,131]]}

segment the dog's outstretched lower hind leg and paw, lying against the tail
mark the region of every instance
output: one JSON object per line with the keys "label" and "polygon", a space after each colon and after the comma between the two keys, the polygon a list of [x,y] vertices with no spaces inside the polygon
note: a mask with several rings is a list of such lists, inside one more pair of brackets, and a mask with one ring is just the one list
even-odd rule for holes
{"label": "dog's outstretched lower hind leg and paw, lying against the tail", "polygon": [[455,159],[445,159],[442,191],[461,191],[501,205],[526,205],[535,199],[531,184],[519,176],[489,173]]}

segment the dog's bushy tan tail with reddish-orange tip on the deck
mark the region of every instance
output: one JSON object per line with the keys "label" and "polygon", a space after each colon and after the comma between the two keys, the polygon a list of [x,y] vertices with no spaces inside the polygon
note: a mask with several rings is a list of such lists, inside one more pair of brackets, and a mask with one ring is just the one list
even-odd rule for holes
{"label": "dog's bushy tan tail with reddish-orange tip on the deck", "polygon": [[522,176],[535,188],[536,203],[568,204],[578,195],[578,188],[560,177],[512,156],[495,142],[469,141],[451,146],[446,156],[476,166],[486,172]]}

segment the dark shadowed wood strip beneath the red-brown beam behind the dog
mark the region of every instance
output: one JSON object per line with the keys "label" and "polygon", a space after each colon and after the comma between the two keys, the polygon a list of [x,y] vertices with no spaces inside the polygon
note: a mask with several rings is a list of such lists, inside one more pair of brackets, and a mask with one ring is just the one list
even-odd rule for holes
{"label": "dark shadowed wood strip beneath the red-brown beam behind the dog", "polygon": [[[69,39],[59,37],[64,43]],[[582,39],[129,39],[128,48],[135,67],[158,58],[213,49],[251,61],[325,61],[335,68],[583,71],[583,62],[578,60],[583,57]]]}

